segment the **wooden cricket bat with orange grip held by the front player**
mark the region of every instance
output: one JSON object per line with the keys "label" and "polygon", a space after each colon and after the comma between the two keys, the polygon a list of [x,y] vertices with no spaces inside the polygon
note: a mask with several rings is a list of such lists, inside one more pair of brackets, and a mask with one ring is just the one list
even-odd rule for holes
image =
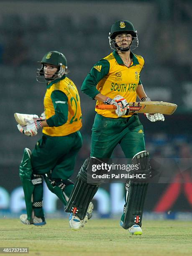
{"label": "wooden cricket bat with orange grip held by the front player", "polygon": [[[163,102],[163,101],[139,101],[139,102],[128,102],[129,113],[160,113],[164,115],[172,115],[177,109],[177,105],[174,103]],[[96,105],[97,109],[116,109],[115,105]],[[126,114],[125,114],[126,115]]]}

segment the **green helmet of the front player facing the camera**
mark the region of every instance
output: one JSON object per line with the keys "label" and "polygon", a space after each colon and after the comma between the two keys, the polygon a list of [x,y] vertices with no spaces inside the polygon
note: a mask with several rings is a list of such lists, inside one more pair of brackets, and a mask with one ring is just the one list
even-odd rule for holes
{"label": "green helmet of the front player facing the camera", "polygon": [[[131,34],[132,42],[129,47],[119,47],[116,44],[115,36],[121,33]],[[117,51],[130,51],[136,49],[136,47],[138,47],[138,36],[137,31],[133,27],[133,24],[128,20],[115,21],[111,27],[111,31],[109,32],[109,44],[111,49]]]}

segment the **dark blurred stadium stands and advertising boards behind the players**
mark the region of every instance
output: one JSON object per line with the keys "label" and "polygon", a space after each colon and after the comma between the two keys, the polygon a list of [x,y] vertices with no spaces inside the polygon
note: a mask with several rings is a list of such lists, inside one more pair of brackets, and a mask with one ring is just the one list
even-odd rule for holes
{"label": "dark blurred stadium stands and advertising boards behind the players", "polygon": [[[33,149],[41,133],[20,134],[13,114],[40,115],[45,84],[36,82],[37,61],[47,51],[61,51],[69,78],[79,89],[83,113],[83,147],[75,174],[90,155],[95,101],[80,92],[92,66],[110,54],[108,33],[115,20],[130,20],[138,32],[145,66],[141,81],[151,100],[178,105],[165,122],[151,123],[140,115],[146,149],[160,158],[191,158],[192,152],[192,3],[189,0],[148,1],[0,1],[0,216],[18,216],[25,209],[18,166],[23,149]],[[120,147],[113,157],[123,157]],[[186,183],[187,182],[187,183]],[[95,196],[98,216],[120,216],[123,184],[105,184]],[[63,206],[45,189],[44,207],[55,216]],[[145,218],[192,219],[192,172],[183,184],[151,184]],[[158,213],[158,214],[157,214]],[[159,216],[159,217],[158,217]]]}

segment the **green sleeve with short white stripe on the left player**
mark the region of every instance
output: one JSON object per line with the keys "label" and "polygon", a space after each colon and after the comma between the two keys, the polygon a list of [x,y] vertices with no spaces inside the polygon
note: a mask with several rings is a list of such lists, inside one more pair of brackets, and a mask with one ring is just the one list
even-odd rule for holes
{"label": "green sleeve with short white stripe on the left player", "polygon": [[49,127],[58,127],[64,125],[68,119],[68,97],[64,92],[54,90],[51,93],[51,100],[54,105],[55,114],[48,118]]}

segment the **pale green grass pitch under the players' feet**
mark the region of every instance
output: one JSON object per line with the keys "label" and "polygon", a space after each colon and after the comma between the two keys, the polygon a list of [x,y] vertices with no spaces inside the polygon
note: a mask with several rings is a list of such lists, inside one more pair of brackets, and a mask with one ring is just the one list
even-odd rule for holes
{"label": "pale green grass pitch under the players' feet", "polygon": [[81,230],[72,231],[67,219],[47,219],[47,225],[37,227],[4,218],[0,247],[29,247],[30,255],[42,256],[192,255],[192,222],[151,220],[143,221],[142,228],[142,236],[132,236],[111,219],[89,220]]}

